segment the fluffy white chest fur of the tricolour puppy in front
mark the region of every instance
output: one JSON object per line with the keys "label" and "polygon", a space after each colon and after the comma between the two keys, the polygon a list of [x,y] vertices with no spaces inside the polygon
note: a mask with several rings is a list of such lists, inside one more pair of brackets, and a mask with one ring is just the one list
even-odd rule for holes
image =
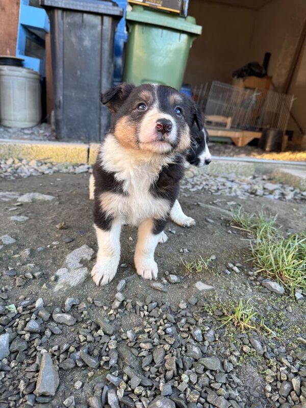
{"label": "fluffy white chest fur of the tricolour puppy in front", "polygon": [[133,151],[122,148],[112,135],[105,141],[100,157],[104,169],[115,173],[115,179],[121,182],[124,192],[100,195],[101,206],[107,215],[138,225],[146,218],[161,219],[169,214],[169,202],[150,193],[162,166],[167,164],[165,158],[139,157]]}

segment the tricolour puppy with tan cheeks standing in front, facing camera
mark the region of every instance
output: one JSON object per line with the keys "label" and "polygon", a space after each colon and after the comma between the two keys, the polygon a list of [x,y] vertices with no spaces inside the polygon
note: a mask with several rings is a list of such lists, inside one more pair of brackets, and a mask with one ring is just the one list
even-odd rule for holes
{"label": "tricolour puppy with tan cheeks standing in front, facing camera", "polygon": [[156,279],[155,248],[179,194],[190,130],[202,129],[202,117],[192,99],[164,85],[121,84],[101,101],[113,115],[91,180],[98,241],[91,276],[96,285],[113,279],[121,226],[130,224],[138,226],[136,271]]}

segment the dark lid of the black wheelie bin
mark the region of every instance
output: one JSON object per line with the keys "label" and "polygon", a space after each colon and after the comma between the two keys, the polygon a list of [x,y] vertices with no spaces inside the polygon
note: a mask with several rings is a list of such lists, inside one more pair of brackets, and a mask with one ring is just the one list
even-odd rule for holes
{"label": "dark lid of the black wheelie bin", "polygon": [[39,3],[46,9],[68,9],[118,17],[123,16],[123,9],[119,8],[115,2],[107,0],[40,0]]}

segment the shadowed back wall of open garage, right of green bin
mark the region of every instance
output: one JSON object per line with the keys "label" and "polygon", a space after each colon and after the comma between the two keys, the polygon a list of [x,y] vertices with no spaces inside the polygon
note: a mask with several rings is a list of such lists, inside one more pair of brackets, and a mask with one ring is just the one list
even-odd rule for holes
{"label": "shadowed back wall of open garage, right of green bin", "polygon": [[202,25],[202,35],[190,50],[184,81],[191,85],[212,80],[231,83],[232,72],[249,61],[255,13],[247,8],[191,0],[188,14]]}

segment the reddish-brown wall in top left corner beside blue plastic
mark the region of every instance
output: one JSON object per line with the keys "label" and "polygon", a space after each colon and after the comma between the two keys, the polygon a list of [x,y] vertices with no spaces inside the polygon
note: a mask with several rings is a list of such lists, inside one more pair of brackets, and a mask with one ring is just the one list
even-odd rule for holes
{"label": "reddish-brown wall in top left corner beside blue plastic", "polygon": [[0,2],[0,55],[16,53],[20,0]]}

